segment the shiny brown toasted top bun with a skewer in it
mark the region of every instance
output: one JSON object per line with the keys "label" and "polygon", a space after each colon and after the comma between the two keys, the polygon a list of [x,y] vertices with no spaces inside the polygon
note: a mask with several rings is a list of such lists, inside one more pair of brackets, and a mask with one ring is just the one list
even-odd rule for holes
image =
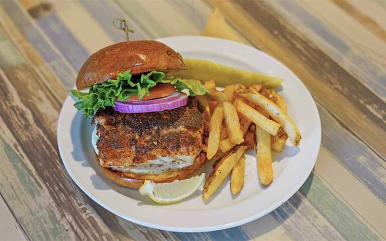
{"label": "shiny brown toasted top bun with a skewer in it", "polygon": [[76,78],[76,88],[80,90],[117,79],[119,73],[127,70],[134,75],[184,68],[181,55],[163,43],[153,40],[121,42],[99,50],[84,62]]}

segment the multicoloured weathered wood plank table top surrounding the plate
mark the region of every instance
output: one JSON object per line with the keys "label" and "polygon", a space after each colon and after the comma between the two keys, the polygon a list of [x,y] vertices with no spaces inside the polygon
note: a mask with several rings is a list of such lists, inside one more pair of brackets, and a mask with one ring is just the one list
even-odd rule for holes
{"label": "multicoloured weathered wood plank table top surrounding the plate", "polygon": [[[385,16],[381,0],[0,1],[0,239],[384,239]],[[119,17],[132,39],[228,38],[298,75],[322,121],[301,189],[258,220],[204,233],[140,226],[90,200],[63,167],[56,125],[84,60],[125,40]]]}

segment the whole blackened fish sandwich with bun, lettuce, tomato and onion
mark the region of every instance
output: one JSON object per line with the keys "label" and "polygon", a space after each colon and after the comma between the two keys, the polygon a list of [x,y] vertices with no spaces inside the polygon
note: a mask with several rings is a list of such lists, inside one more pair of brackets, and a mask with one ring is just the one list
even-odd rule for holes
{"label": "whole blackened fish sandwich with bun, lettuce, tomato and onion", "polygon": [[181,56],[157,41],[108,46],[81,67],[74,106],[92,116],[96,160],[114,182],[172,182],[205,163],[209,116],[195,96],[207,91],[200,81],[165,75],[181,69]]}

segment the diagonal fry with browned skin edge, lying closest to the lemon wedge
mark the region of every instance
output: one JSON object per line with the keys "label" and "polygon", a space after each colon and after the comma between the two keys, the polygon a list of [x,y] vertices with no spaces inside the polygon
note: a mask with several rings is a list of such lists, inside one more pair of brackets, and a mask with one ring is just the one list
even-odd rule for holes
{"label": "diagonal fry with browned skin edge, lying closest to the lemon wedge", "polygon": [[216,165],[204,184],[203,199],[205,201],[209,200],[221,186],[233,167],[240,160],[240,157],[244,154],[245,150],[247,150],[247,147],[243,145],[235,147]]}

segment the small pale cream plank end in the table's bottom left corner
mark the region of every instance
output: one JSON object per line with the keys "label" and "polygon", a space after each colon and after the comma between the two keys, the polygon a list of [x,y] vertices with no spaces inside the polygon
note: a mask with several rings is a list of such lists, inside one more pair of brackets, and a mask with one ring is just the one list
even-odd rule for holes
{"label": "small pale cream plank end in the table's bottom left corner", "polygon": [[20,241],[29,240],[2,196],[0,196],[0,217],[2,217],[0,219],[0,233],[2,234],[2,239]]}

